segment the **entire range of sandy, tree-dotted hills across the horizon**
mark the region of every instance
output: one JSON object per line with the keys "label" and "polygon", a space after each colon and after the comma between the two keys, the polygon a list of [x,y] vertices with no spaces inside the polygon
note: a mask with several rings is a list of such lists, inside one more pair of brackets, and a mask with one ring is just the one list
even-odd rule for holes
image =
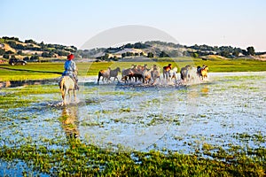
{"label": "entire range of sandy, tree-dotted hills across the horizon", "polygon": [[[0,58],[20,58],[27,61],[58,61],[66,59],[69,53],[74,53],[76,60],[92,58],[98,61],[110,60],[145,60],[147,58],[177,58],[192,57],[202,59],[235,59],[251,58],[266,60],[266,52],[255,52],[254,47],[240,49],[231,46],[208,46],[193,45],[186,46],[173,42],[136,42],[127,43],[116,48],[96,48],[92,50],[77,50],[74,46],[64,46],[60,44],[51,44],[35,42],[34,40],[25,40],[21,42],[17,37],[0,38]],[[81,60],[81,61],[82,61]],[[133,60],[133,59],[132,59]]]}

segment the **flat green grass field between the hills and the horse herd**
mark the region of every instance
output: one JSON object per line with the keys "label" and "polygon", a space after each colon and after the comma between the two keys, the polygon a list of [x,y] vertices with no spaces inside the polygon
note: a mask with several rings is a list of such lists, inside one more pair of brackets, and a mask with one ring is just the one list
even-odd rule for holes
{"label": "flat green grass field between the hills and the horse herd", "polygon": [[[150,62],[93,62],[77,63],[79,75],[98,75],[98,71],[119,66],[121,69],[129,68],[131,65],[168,65],[177,66],[179,71],[184,65],[208,65],[209,72],[260,72],[266,71],[266,62],[252,59],[224,60],[214,58],[202,60],[201,58],[160,58]],[[56,78],[64,71],[63,63],[29,63],[28,65],[0,65],[0,81],[24,81],[44,80]]]}

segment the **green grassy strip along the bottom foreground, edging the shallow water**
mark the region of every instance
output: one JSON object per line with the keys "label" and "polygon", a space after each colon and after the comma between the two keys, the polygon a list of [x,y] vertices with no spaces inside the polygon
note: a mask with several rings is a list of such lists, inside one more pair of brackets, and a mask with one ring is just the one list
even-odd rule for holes
{"label": "green grassy strip along the bottom foreground, edging the shallow water", "polygon": [[[50,150],[45,146],[3,147],[0,158],[21,159],[35,171],[56,176],[264,176],[265,149],[236,147],[228,153],[223,148],[200,154],[183,155],[150,152],[111,152],[70,139],[67,150]],[[25,173],[30,175],[30,173]]]}

